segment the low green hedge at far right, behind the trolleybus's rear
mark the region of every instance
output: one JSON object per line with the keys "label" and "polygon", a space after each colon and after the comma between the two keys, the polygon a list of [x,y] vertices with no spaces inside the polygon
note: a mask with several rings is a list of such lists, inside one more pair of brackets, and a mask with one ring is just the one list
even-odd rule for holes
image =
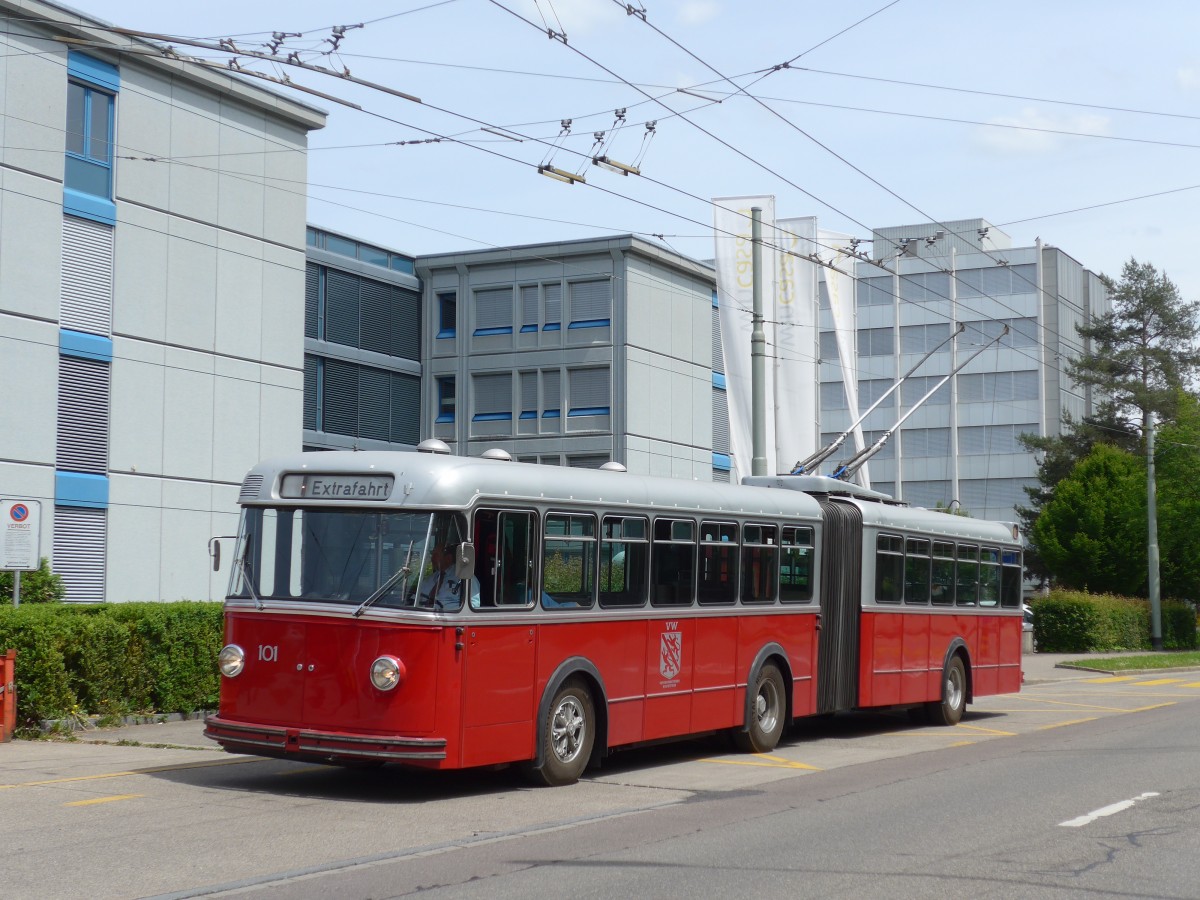
{"label": "low green hedge at far right, behind the trolleybus's rear", "polygon": [[[1056,590],[1033,600],[1033,637],[1043,653],[1148,650],[1150,602],[1112,594]],[[1163,648],[1196,649],[1195,608],[1162,605]]]}

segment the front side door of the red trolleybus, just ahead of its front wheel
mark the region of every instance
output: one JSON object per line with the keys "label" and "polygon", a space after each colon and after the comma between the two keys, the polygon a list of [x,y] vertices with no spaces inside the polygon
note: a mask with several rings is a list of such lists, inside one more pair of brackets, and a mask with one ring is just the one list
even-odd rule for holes
{"label": "front side door of the red trolleybus, just ahead of its front wheel", "polygon": [[529,590],[522,583],[517,592],[512,580],[533,569],[535,527],[533,512],[481,510],[475,517],[482,607],[463,636],[464,766],[533,756],[538,631]]}

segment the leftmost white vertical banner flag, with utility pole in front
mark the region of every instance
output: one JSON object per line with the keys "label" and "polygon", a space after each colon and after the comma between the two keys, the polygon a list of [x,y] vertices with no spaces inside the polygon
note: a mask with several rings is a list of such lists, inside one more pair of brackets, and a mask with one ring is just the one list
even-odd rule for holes
{"label": "leftmost white vertical banner flag, with utility pole in front", "polygon": [[[737,484],[750,474],[754,458],[751,436],[750,334],[754,330],[754,262],[750,239],[750,209],[762,210],[762,305],[767,319],[768,372],[774,362],[775,329],[772,308],[775,296],[775,198],[718,197],[713,199],[714,246],[716,258],[716,304],[721,318],[721,347],[725,350],[726,397],[730,408],[730,450],[733,470],[730,480]],[[767,378],[767,472],[778,472],[775,460],[775,407],[770,377]]]}

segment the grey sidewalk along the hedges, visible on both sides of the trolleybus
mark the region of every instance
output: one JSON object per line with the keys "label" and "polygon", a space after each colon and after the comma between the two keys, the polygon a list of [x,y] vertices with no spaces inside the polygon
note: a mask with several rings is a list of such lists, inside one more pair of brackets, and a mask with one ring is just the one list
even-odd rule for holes
{"label": "grey sidewalk along the hedges, visible on both sides of the trolleybus", "polygon": [[[1078,653],[1027,653],[1021,660],[1021,668],[1025,673],[1025,684],[1043,684],[1045,682],[1070,680],[1074,678],[1094,677],[1096,672],[1108,672],[1104,668],[1103,659],[1120,655],[1140,654],[1114,654],[1108,653],[1097,656],[1096,667],[1063,668],[1060,664],[1068,660],[1080,660],[1084,656]],[[1170,670],[1154,670],[1164,672]],[[88,728],[76,732],[76,739],[100,744],[137,744],[142,746],[163,745],[164,748],[210,750],[220,752],[221,749],[204,737],[204,718],[197,714],[193,719],[179,719],[167,716],[164,721],[139,725],[122,725],[108,728]],[[2,750],[6,762],[18,762],[22,755],[36,757],[40,748],[44,746],[38,740],[14,740]]]}

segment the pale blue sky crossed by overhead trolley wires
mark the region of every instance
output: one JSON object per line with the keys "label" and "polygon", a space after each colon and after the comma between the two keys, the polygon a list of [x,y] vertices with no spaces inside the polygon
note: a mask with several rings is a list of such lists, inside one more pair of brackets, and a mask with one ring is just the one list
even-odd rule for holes
{"label": "pale blue sky crossed by overhead trolley wires", "polygon": [[[773,194],[780,217],[858,238],[985,218],[1114,277],[1152,263],[1200,300],[1195,0],[72,6],[263,52],[284,32],[280,53],[419,97],[287,68],[362,107],[296,95],[329,113],[310,136],[310,223],[404,253],[635,233],[706,259],[710,198]],[[593,166],[598,132],[641,175]]]}

